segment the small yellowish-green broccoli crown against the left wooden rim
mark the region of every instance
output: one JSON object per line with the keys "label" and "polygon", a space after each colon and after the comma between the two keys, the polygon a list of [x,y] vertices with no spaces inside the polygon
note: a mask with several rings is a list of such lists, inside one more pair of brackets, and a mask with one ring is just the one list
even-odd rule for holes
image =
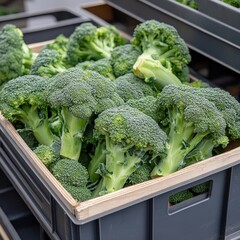
{"label": "small yellowish-green broccoli crown against the left wooden rim", "polygon": [[59,160],[59,154],[51,146],[39,145],[33,152],[49,170]]}

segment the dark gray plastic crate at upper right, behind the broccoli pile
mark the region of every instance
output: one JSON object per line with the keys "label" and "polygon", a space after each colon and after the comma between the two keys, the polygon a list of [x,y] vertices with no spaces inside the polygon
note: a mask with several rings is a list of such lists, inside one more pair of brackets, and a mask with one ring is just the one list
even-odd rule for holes
{"label": "dark gray plastic crate at upper right, behind the broccoli pile", "polygon": [[116,9],[144,21],[174,26],[189,48],[240,73],[240,10],[218,0],[199,0],[194,10],[175,0],[107,0]]}

